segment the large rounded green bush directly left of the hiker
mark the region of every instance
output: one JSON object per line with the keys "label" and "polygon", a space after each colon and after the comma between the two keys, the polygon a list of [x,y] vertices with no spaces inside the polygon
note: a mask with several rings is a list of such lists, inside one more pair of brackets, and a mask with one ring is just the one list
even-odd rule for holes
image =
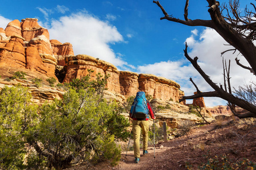
{"label": "large rounded green bush directly left of the hiker", "polygon": [[40,108],[42,117],[30,143],[46,152],[48,162],[59,163],[52,163],[56,169],[81,160],[97,162],[111,158],[113,163],[117,162],[120,150],[113,139],[129,136],[124,129],[129,122],[115,111],[117,104],[101,99],[94,88],[78,91],[71,88],[63,100]]}

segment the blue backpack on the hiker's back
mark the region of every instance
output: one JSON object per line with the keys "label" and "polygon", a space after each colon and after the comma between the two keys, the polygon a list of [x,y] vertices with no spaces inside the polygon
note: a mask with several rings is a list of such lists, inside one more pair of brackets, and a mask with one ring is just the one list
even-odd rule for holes
{"label": "blue backpack on the hiker's back", "polygon": [[131,118],[146,118],[148,117],[147,99],[143,91],[137,92],[137,95],[131,105]]}

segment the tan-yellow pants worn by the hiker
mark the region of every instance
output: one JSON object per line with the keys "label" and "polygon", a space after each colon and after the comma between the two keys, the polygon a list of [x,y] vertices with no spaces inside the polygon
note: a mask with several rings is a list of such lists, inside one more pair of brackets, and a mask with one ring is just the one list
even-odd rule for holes
{"label": "tan-yellow pants worn by the hiker", "polygon": [[141,158],[139,153],[139,138],[143,136],[143,150],[147,150],[149,123],[146,120],[133,120],[134,157]]}

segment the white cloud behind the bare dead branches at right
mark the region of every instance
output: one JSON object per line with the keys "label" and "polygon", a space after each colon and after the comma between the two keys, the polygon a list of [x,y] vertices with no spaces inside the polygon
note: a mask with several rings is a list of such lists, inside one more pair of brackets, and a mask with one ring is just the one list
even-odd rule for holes
{"label": "white cloud behind the bare dead branches at right", "polygon": [[[198,64],[201,69],[210,76],[210,79],[212,79],[214,83],[223,84],[221,52],[224,52],[227,49],[232,49],[233,47],[224,45],[228,43],[213,29],[204,29],[199,37],[195,37],[196,34],[197,32],[194,29],[191,37],[186,40],[189,56],[191,58],[196,56],[199,57]],[[229,59],[231,60],[230,82],[232,87],[237,88],[238,86],[249,83],[250,80],[256,81],[255,76],[251,74],[250,71],[242,69],[240,66],[236,65],[236,61],[234,61],[234,58],[236,57],[241,59],[240,62],[244,65],[247,63],[245,58],[240,54],[227,52],[223,56],[227,62]],[[193,82],[197,84],[200,91],[213,91],[201,75],[197,73],[195,68],[185,59],[181,59],[180,61],[163,61],[151,65],[139,66],[138,72],[155,74],[157,76],[172,79],[181,85],[181,90],[183,90],[187,96],[193,95],[193,92],[196,91],[193,84],[189,81],[190,77],[192,77]],[[207,106],[226,105],[227,103],[217,97],[205,97],[204,100]]]}

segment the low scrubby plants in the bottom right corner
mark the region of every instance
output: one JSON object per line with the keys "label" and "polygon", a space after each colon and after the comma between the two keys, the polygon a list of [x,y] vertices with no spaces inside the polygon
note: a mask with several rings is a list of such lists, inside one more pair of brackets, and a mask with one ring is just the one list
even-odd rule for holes
{"label": "low scrubby plants in the bottom right corner", "polygon": [[225,154],[220,156],[205,155],[207,163],[200,165],[199,169],[255,169],[256,163],[249,159],[229,159]]}

